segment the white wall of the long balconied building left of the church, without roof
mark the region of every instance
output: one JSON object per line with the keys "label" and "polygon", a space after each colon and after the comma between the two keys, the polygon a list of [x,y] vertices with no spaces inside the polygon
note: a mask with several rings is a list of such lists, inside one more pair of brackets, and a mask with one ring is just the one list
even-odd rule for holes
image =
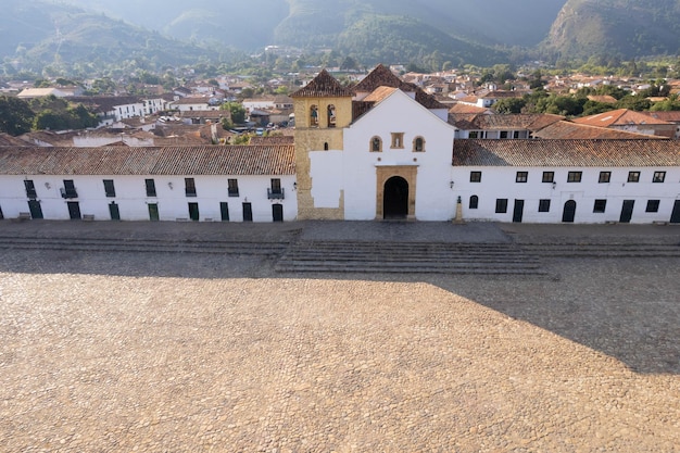
{"label": "white wall of the long balconied building left of the church, without roof", "polygon": [[[185,193],[185,176],[2,176],[0,178],[0,207],[5,218],[16,218],[20,213],[29,212],[24,179],[34,181],[37,200],[40,202],[45,219],[68,219],[67,201],[77,201],[83,215],[93,215],[95,221],[111,219],[109,204],[118,204],[122,221],[149,221],[149,203],[156,203],[161,221],[189,218],[189,202],[199,203],[200,221],[219,222],[219,203],[229,203],[229,221],[242,222],[243,202],[252,203],[253,222],[272,222],[272,204],[284,205],[284,221],[297,218],[298,201],[293,183],[294,176],[191,176],[196,181],[197,197]],[[156,197],[147,197],[144,179],[154,179]],[[228,196],[230,178],[238,179],[239,197]],[[269,200],[267,188],[270,179],[281,179],[284,200]],[[73,179],[78,198],[65,200],[60,188],[64,179]],[[113,179],[115,197],[105,196],[103,179]],[[171,187],[172,186],[172,187]]]}

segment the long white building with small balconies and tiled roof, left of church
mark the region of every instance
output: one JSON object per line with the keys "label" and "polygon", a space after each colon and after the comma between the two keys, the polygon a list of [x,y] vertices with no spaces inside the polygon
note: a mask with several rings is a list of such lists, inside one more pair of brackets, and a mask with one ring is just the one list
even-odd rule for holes
{"label": "long white building with small balconies and tiled roof, left of church", "polygon": [[292,146],[34,148],[0,152],[8,218],[294,219]]}

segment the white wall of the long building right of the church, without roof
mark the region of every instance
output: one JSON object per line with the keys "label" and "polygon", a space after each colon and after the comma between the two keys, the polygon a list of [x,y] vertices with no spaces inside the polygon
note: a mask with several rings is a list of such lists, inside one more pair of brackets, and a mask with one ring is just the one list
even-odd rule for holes
{"label": "white wall of the long building right of the church, without roof", "polygon": [[[628,183],[630,171],[640,172],[640,183]],[[481,172],[481,183],[470,183],[470,172]],[[527,183],[516,183],[517,172],[528,172]],[[555,172],[555,185],[542,183],[543,172]],[[582,172],[581,183],[567,183],[569,172]],[[600,172],[612,172],[610,183],[597,183]],[[654,172],[666,172],[664,183],[652,183]],[[524,200],[524,223],[561,223],[564,205],[576,202],[575,223],[619,222],[624,200],[634,200],[631,223],[668,222],[675,200],[680,199],[677,167],[454,167],[454,192],[461,196],[463,217],[468,221],[513,222],[515,200]],[[479,207],[469,209],[471,196]],[[507,199],[507,212],[496,213],[496,199]],[[551,200],[550,212],[538,212],[539,200]],[[593,212],[595,200],[607,200],[604,213]],[[659,200],[656,213],[645,212],[648,200]]]}

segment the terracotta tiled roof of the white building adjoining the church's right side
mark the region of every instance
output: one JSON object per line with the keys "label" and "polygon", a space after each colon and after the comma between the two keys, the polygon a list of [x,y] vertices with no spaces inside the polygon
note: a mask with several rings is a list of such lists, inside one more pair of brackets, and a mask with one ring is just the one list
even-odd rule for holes
{"label": "terracotta tiled roof of the white building adjoining the church's right side", "polygon": [[678,140],[462,140],[453,165],[466,166],[678,166]]}

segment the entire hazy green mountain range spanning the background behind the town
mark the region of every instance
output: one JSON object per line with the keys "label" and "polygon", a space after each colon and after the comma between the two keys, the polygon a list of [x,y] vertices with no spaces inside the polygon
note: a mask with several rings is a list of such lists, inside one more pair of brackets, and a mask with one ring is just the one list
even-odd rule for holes
{"label": "entire hazy green mountain range spanning the background behind the town", "polygon": [[675,54],[680,0],[4,0],[0,15],[5,71],[153,70],[267,45],[429,67],[503,63],[519,48],[554,59]]}

